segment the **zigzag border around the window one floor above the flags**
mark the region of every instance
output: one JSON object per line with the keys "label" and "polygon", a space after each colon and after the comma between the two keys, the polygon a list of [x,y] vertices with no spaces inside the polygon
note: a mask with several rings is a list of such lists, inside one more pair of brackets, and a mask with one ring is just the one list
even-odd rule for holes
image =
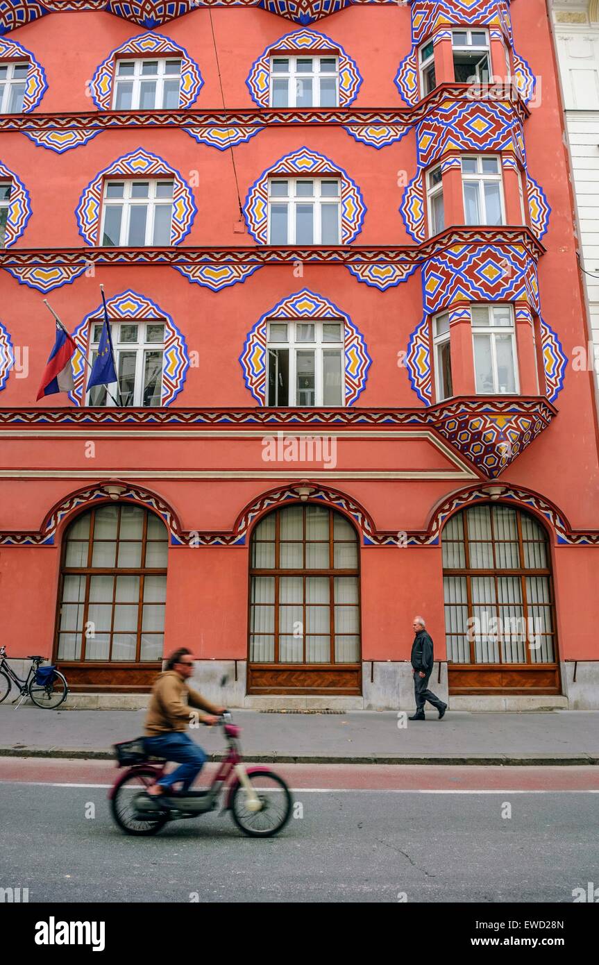
{"label": "zigzag border around the window one floor above the flags", "polygon": [[198,212],[193,193],[181,178],[178,171],[167,164],[156,154],[150,154],[143,148],[123,154],[107,168],[100,171],[95,179],[90,181],[84,189],[75,215],[79,226],[79,234],[90,245],[96,243],[99,234],[99,214],[102,202],[102,190],[105,178],[115,175],[147,175],[150,178],[172,177],[175,181],[173,190],[173,222],[171,227],[171,244],[177,245],[191,231],[193,220]]}

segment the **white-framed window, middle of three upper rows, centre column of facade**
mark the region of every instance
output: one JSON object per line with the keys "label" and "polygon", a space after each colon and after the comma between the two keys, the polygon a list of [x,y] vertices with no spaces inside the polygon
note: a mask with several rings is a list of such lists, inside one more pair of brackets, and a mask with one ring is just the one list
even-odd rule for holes
{"label": "white-framed window, middle of three upper rows, centre column of facade", "polygon": [[340,243],[340,182],[331,179],[270,179],[268,243]]}

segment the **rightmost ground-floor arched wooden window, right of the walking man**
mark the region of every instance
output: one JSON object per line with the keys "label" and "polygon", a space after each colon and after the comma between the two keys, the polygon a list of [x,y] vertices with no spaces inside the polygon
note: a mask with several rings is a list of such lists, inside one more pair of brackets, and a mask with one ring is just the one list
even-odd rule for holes
{"label": "rightmost ground-floor arched wooden window, right of the walking man", "polygon": [[[545,670],[526,674],[540,665],[557,668],[549,544],[537,520],[503,504],[462,510],[443,531],[443,567],[449,668],[509,670],[507,676],[471,676],[471,688],[454,675],[457,690],[531,686],[547,692],[557,685],[547,682],[557,676]],[[513,676],[518,669],[524,675]]]}

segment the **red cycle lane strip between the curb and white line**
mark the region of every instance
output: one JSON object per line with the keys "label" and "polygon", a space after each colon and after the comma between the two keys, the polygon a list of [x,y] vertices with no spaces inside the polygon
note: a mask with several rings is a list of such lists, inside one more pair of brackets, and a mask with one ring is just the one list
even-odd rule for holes
{"label": "red cycle lane strip between the curb and white line", "polygon": [[[247,761],[248,766],[251,761]],[[215,765],[202,775],[207,783]],[[599,792],[599,767],[444,767],[426,764],[273,764],[296,790],[428,793]],[[111,785],[119,771],[108,760],[0,758],[0,784]],[[0,787],[0,796],[1,796]]]}

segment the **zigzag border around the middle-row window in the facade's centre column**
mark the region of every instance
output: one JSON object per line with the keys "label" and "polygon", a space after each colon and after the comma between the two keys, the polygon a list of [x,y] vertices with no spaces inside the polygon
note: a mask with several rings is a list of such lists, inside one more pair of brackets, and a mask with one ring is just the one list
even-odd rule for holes
{"label": "zigzag border around the middle-row window in the facade's centre column", "polygon": [[286,154],[262,172],[248,191],[243,213],[248,231],[259,241],[266,244],[268,239],[268,179],[276,175],[314,175],[340,178],[341,181],[341,244],[349,244],[362,230],[366,206],[358,185],[338,164],[334,164],[323,154],[316,154],[308,148]]}

